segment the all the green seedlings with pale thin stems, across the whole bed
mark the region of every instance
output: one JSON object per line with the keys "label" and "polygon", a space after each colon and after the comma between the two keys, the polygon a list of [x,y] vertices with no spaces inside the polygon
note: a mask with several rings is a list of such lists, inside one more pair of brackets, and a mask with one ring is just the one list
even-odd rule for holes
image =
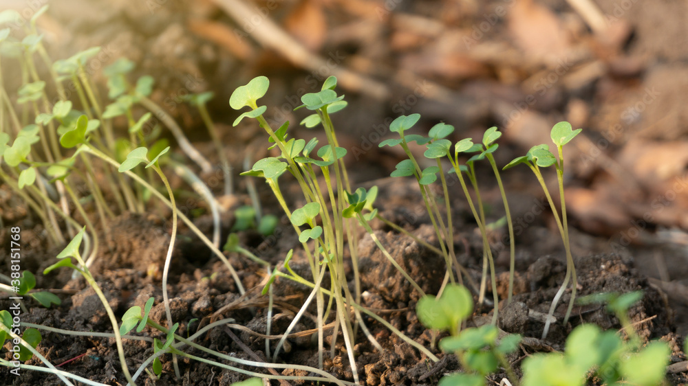
{"label": "all the green seedlings with pale thin stems, across the whole bed", "polygon": [[[45,10],[45,8],[43,9]],[[9,12],[9,13],[8,13]],[[0,21],[12,20],[18,15],[6,11],[0,14]],[[232,319],[222,319],[204,326],[189,337],[182,337],[175,332],[184,321],[173,320],[169,295],[167,291],[167,277],[175,245],[178,219],[182,220],[217,256],[224,262],[229,273],[235,280],[235,286],[241,294],[246,290],[241,284],[233,266],[226,256],[219,250],[219,208],[211,191],[190,168],[183,162],[175,161],[171,157],[166,140],[160,139],[162,126],[166,126],[179,144],[181,152],[192,159],[202,172],[212,170],[212,166],[205,157],[198,152],[184,137],[182,130],[167,115],[160,106],[149,99],[153,87],[153,78],[142,76],[135,82],[129,79],[129,73],[133,69],[133,63],[120,59],[109,67],[105,67],[103,74],[107,78],[108,94],[110,100],[105,104],[102,95],[94,87],[92,78],[86,71],[86,65],[98,54],[98,47],[79,52],[65,60],[53,62],[43,47],[42,36],[36,32],[35,17],[30,23],[25,24],[25,37],[17,40],[11,36],[12,30],[5,28],[0,30],[0,65],[10,60],[13,65],[21,70],[23,85],[17,93],[15,108],[8,95],[0,72],[0,179],[12,188],[23,201],[32,209],[32,212],[43,223],[47,238],[51,245],[65,245],[67,247],[56,256],[57,262],[43,271],[43,275],[50,274],[55,269],[68,268],[75,275],[82,276],[89,286],[92,286],[96,295],[103,303],[113,332],[76,332],[58,330],[32,323],[21,323],[25,328],[19,335],[19,329],[12,325],[12,317],[7,310],[0,311],[0,343],[7,339],[21,345],[18,354],[20,361],[36,356],[45,367],[21,364],[21,367],[41,372],[50,372],[58,376],[67,385],[72,385],[76,380],[87,385],[102,385],[96,381],[90,381],[76,374],[70,374],[58,370],[50,361],[41,356],[36,347],[41,341],[41,331],[49,331],[67,335],[88,335],[90,337],[111,337],[116,341],[118,356],[122,374],[127,378],[129,385],[140,382],[140,376],[146,372],[147,376],[160,377],[162,373],[161,356],[171,354],[175,375],[180,376],[178,356],[184,356],[193,361],[208,363],[217,367],[241,372],[255,378],[250,378],[241,385],[261,385],[260,378],[283,379],[293,381],[313,381],[319,383],[335,383],[338,385],[360,384],[359,369],[356,368],[356,336],[358,331],[378,350],[383,351],[382,345],[376,341],[373,334],[367,328],[366,320],[374,319],[383,324],[400,339],[422,352],[430,361],[439,361],[431,348],[424,347],[420,343],[407,337],[380,315],[362,306],[364,288],[358,272],[357,247],[358,229],[365,230],[365,237],[373,240],[383,253],[411,286],[418,291],[420,301],[417,305],[420,321],[436,332],[448,331],[450,337],[444,338],[439,345],[445,352],[455,352],[464,367],[462,374],[453,374],[442,378],[442,385],[484,385],[486,376],[497,372],[499,366],[508,374],[507,383],[514,385],[583,385],[593,374],[599,376],[605,383],[615,384],[621,380],[636,385],[656,385],[664,378],[664,367],[668,360],[668,348],[664,343],[650,343],[642,348],[641,342],[634,334],[632,326],[625,317],[627,308],[638,301],[638,294],[607,295],[596,297],[588,301],[607,302],[609,308],[616,313],[622,321],[625,330],[630,337],[628,341],[622,341],[614,332],[601,332],[595,326],[579,326],[572,332],[567,343],[566,352],[536,354],[526,359],[522,365],[524,372],[520,380],[515,376],[514,370],[506,359],[508,354],[514,352],[521,337],[517,335],[500,336],[496,327],[499,299],[495,280],[495,264],[488,242],[488,224],[486,224],[485,208],[481,200],[478,184],[478,174],[475,170],[477,161],[486,160],[492,170],[502,194],[504,209],[506,212],[506,224],[510,236],[510,277],[508,285],[508,299],[511,302],[513,293],[513,277],[515,268],[515,242],[513,239],[513,224],[510,218],[509,206],[500,177],[500,170],[495,163],[493,153],[497,150],[497,139],[502,133],[496,127],[489,128],[484,133],[482,141],[473,142],[471,138],[462,139],[452,143],[447,137],[453,133],[454,128],[449,124],[436,124],[429,130],[427,136],[407,134],[420,120],[420,115],[402,115],[391,122],[389,129],[398,137],[387,139],[380,146],[400,146],[408,159],[398,163],[392,177],[413,177],[418,183],[424,206],[433,225],[433,229],[439,240],[439,248],[427,244],[424,240],[409,234],[400,227],[399,231],[405,232],[420,244],[436,251],[446,262],[446,271],[442,280],[442,286],[437,297],[427,295],[405,269],[389,254],[383,242],[374,233],[371,221],[383,220],[391,224],[378,213],[374,207],[374,201],[378,190],[373,187],[354,189],[345,167],[344,157],[347,150],[339,146],[339,142],[332,124],[330,115],[341,111],[347,106],[344,95],[338,95],[336,78],[325,80],[321,91],[307,93],[301,98],[303,103],[297,109],[307,109],[311,112],[301,124],[312,128],[322,126],[326,138],[326,144],[319,144],[315,138],[305,139],[289,138],[289,122],[275,129],[268,124],[264,117],[267,106],[260,106],[258,100],[268,91],[269,81],[264,76],[254,78],[245,86],[239,87],[233,93],[229,104],[233,109],[240,110],[248,107],[249,111],[241,113],[234,122],[236,126],[244,118],[255,119],[268,134],[270,149],[275,148],[276,157],[267,157],[255,162],[246,172],[245,176],[264,179],[290,219],[294,232],[299,236],[299,242],[303,248],[303,255],[308,262],[312,280],[299,275],[290,267],[293,250],[289,251],[279,266],[261,260],[248,249],[239,245],[236,234],[230,234],[225,251],[237,252],[253,262],[259,263],[265,269],[268,279],[262,293],[269,297],[267,312],[267,332],[271,332],[272,315],[272,286],[278,285],[280,280],[291,280],[311,288],[310,294],[301,305],[277,345],[271,344],[266,338],[266,358],[268,363],[248,361],[235,356],[227,355],[217,350],[211,350],[203,345],[195,343],[197,337],[202,336],[208,330],[217,326],[233,326]],[[1,25],[0,25],[1,27]],[[45,67],[50,79],[39,78],[39,66]],[[1,69],[1,67],[0,67]],[[50,98],[47,93],[50,88],[56,92],[56,98]],[[76,91],[76,98],[80,109],[74,107],[74,103],[67,98],[65,83]],[[224,174],[224,190],[226,194],[233,193],[232,173],[229,162],[219,142],[219,134],[215,130],[213,121],[206,109],[206,103],[212,98],[211,93],[189,95],[185,98],[192,106],[195,106],[213,139],[218,152],[222,173]],[[136,106],[136,109],[134,107]],[[147,111],[136,117],[135,112]],[[157,120],[153,119],[157,117]],[[128,136],[117,138],[114,130],[114,120],[127,122]],[[161,125],[162,124],[162,125]],[[514,159],[503,169],[508,169],[524,163],[537,177],[537,181],[544,190],[552,213],[557,222],[561,239],[566,250],[567,271],[561,288],[552,299],[547,324],[544,328],[543,338],[547,336],[550,327],[551,316],[566,288],[571,288],[570,303],[563,322],[566,323],[574,304],[577,277],[574,260],[570,251],[568,237],[568,223],[566,219],[566,202],[563,190],[563,146],[571,141],[581,129],[573,130],[568,122],[559,122],[551,131],[552,141],[557,148],[557,155],[550,152],[546,144],[534,146],[523,157]],[[426,146],[424,157],[429,159],[433,166],[421,168],[420,163],[409,149],[409,144],[415,142],[420,146]],[[557,157],[558,156],[558,157]],[[449,160],[450,170],[444,170],[444,159]],[[144,164],[144,168],[139,167]],[[423,162],[424,163],[424,162]],[[436,164],[436,165],[435,165]],[[559,182],[559,198],[561,212],[557,212],[557,206],[552,201],[552,195],[544,183],[541,168],[554,166]],[[208,201],[215,219],[213,240],[206,237],[188,217],[180,213],[175,205],[175,195],[168,182],[165,171],[171,170],[193,188],[200,196]],[[453,222],[452,208],[450,206],[450,194],[447,185],[447,176],[455,173],[460,181],[462,192],[469,204],[471,213],[475,218],[477,228],[483,240],[483,275],[480,286],[473,283],[457,260],[453,246]],[[303,193],[305,205],[290,207],[281,190],[279,179],[283,174],[290,176],[298,183]],[[104,182],[103,182],[104,181]],[[441,194],[431,189],[433,183],[441,184]],[[100,182],[100,183],[98,183]],[[133,182],[133,183],[132,183]],[[80,195],[75,187],[85,184],[89,193]],[[473,194],[471,194],[471,191]],[[324,187],[324,189],[323,189]],[[164,192],[164,193],[161,193]],[[108,197],[114,205],[105,201]],[[141,213],[153,199],[162,202],[172,212],[172,228],[169,249],[164,260],[162,271],[162,295],[166,315],[166,326],[149,318],[149,312],[153,307],[153,298],[149,299],[144,308],[135,306],[127,310],[120,317],[116,317],[110,308],[105,295],[100,290],[89,267],[98,258],[102,240],[96,231],[96,218],[100,220],[100,229],[107,233],[109,220],[118,214],[125,212]],[[87,205],[87,206],[85,206]],[[70,210],[74,208],[74,211]],[[89,214],[88,208],[93,208],[95,214]],[[93,212],[93,211],[92,211]],[[241,207],[237,210],[237,221],[233,231],[255,228],[261,234],[269,235],[277,225],[277,217],[261,216],[259,205],[254,207]],[[71,240],[67,243],[67,240]],[[345,274],[345,256],[350,256],[353,267],[352,275],[354,286],[350,287],[350,277]],[[261,268],[262,269],[262,268]],[[328,280],[323,280],[327,274]],[[488,275],[491,277],[494,311],[492,323],[479,328],[465,328],[466,319],[473,313],[473,295],[464,286],[471,286],[478,295],[478,301],[483,302],[486,294]],[[43,306],[60,304],[55,295],[45,292],[32,292],[36,284],[35,277],[29,272],[17,273],[17,277],[0,276],[7,284],[2,284],[0,290],[29,294]],[[327,282],[327,285],[324,283]],[[19,284],[19,291],[13,291],[8,284]],[[299,320],[306,313],[307,308],[314,302],[316,307],[318,347],[318,366],[308,367],[296,364],[278,363],[278,354],[283,350],[288,335],[296,328]],[[23,306],[23,305],[22,305]],[[25,308],[24,308],[25,309]],[[364,318],[365,315],[365,318]],[[325,324],[331,321],[332,336],[340,335],[345,345],[345,352],[352,370],[352,381],[343,381],[326,372],[323,366],[325,361]],[[188,323],[191,323],[189,321]],[[144,332],[158,330],[165,334],[164,341],[151,339]],[[463,327],[463,328],[462,328]],[[138,335],[130,332],[136,328]],[[138,339],[148,341],[153,348],[153,354],[149,356],[136,371],[131,371],[127,366],[123,341],[125,339]],[[330,357],[335,355],[336,341],[330,341]],[[208,357],[200,357],[191,354],[189,348],[200,350]],[[231,364],[227,364],[231,363]],[[14,363],[6,359],[0,359],[0,365],[12,367]],[[252,368],[254,370],[245,370]],[[260,370],[266,369],[294,369],[307,372],[308,376],[283,376],[264,374]],[[237,385],[239,385],[237,383]]]}

